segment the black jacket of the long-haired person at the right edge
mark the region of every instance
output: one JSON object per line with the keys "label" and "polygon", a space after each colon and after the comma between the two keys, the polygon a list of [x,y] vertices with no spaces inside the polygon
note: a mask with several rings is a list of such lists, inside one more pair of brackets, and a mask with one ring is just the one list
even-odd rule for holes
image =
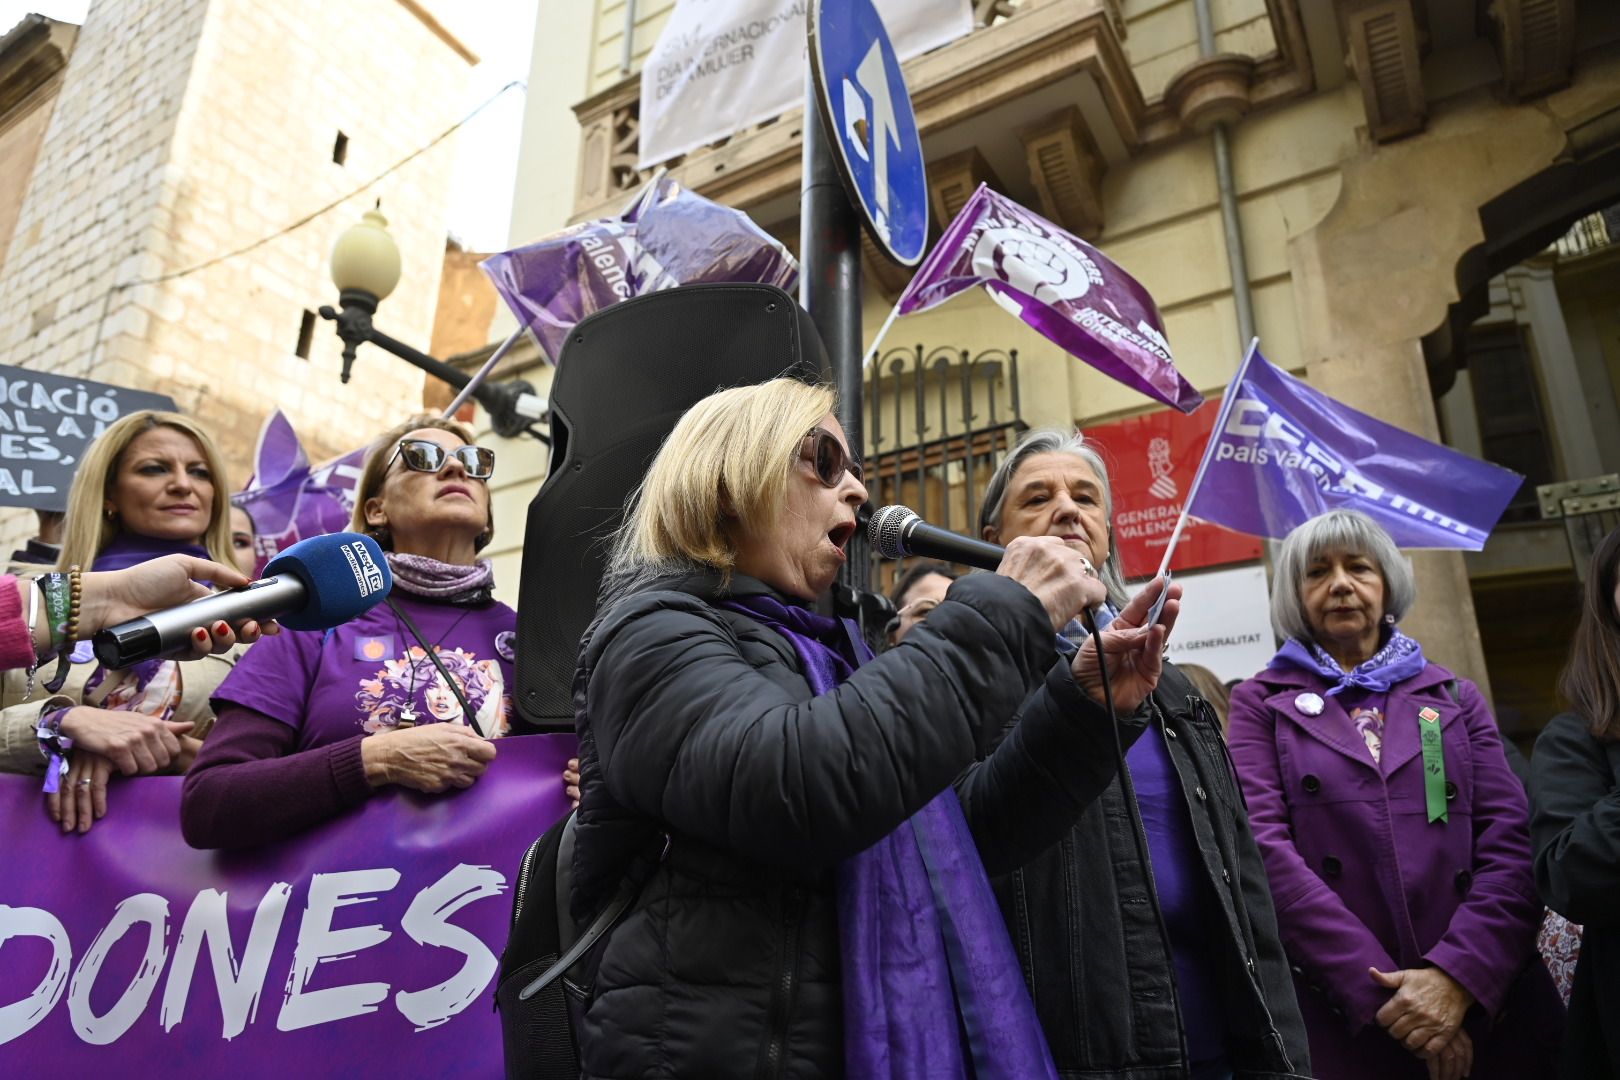
{"label": "black jacket of the long-haired person at the right edge", "polygon": [[1620,1078],[1620,743],[1575,712],[1536,740],[1529,839],[1542,902],[1580,923],[1560,1075]]}

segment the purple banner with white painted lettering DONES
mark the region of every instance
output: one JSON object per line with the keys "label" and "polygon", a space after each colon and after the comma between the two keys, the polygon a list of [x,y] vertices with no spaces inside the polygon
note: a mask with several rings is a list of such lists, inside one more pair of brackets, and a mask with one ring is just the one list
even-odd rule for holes
{"label": "purple banner with white painted lettering DONES", "polygon": [[512,887],[575,740],[497,750],[463,792],[233,853],[186,847],[178,777],[113,782],[86,836],[0,777],[0,1074],[501,1075]]}

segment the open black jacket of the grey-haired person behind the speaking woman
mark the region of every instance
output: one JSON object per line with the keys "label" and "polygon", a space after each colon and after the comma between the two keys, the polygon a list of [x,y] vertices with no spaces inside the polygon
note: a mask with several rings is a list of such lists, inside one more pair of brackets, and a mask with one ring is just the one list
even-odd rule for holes
{"label": "open black jacket of the grey-haired person behind the speaking woman", "polygon": [[[1215,712],[1171,664],[1152,703],[1187,798],[1209,895],[1218,899],[1209,941],[1220,963],[1230,1062],[1238,1077],[1309,1075],[1272,891]],[[1186,1075],[1170,944],[1132,829],[1115,777],[1059,844],[993,882],[1066,1078]]]}

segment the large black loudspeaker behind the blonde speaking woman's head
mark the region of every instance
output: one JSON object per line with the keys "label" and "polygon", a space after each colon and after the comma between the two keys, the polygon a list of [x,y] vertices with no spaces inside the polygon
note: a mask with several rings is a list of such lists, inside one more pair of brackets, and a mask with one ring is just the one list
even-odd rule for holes
{"label": "large black loudspeaker behind the blonde speaking woman's head", "polygon": [[528,504],[515,730],[573,730],[573,662],[624,504],[680,415],[726,387],[829,382],[810,316],[773,285],[684,285],[590,316],[551,385],[551,471]]}

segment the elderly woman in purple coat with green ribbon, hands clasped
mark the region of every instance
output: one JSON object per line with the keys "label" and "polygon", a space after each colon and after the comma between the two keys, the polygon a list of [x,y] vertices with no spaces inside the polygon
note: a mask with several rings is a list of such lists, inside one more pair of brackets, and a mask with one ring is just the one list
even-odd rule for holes
{"label": "elderly woman in purple coat with green ribbon, hands clasped", "polygon": [[1396,627],[1406,559],[1333,510],[1283,541],[1285,644],[1231,695],[1231,756],[1325,1078],[1550,1075],[1524,789],[1474,683]]}

